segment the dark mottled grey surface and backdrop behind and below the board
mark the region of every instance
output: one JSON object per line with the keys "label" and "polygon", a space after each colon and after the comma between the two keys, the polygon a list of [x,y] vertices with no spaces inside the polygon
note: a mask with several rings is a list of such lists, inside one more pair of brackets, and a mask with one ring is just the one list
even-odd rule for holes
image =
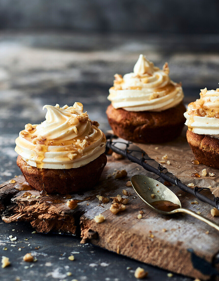
{"label": "dark mottled grey surface and backdrop behind and below the board", "polygon": [[[159,67],[169,63],[185,103],[201,88],[218,87],[218,8],[218,0],[0,0],[0,182],[20,174],[15,138],[26,123],[45,119],[45,104],[81,101],[106,132],[113,75],[131,72],[140,53]],[[19,243],[32,236],[22,252],[10,246],[12,228]],[[1,223],[0,245],[8,251],[0,248],[0,255],[12,261],[0,268],[1,280],[136,280],[137,266],[149,270],[148,280],[190,280],[71,237],[31,232]],[[23,254],[38,245],[38,262],[25,269]],[[74,265],[66,258],[71,251],[79,253]]]}

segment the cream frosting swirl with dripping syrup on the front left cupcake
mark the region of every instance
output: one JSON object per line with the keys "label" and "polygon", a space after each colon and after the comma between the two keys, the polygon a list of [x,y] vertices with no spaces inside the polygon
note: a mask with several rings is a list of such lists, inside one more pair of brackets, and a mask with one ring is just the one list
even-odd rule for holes
{"label": "cream frosting swirl with dripping syrup on the front left cupcake", "polygon": [[106,137],[83,112],[81,103],[45,105],[46,120],[26,124],[15,140],[15,151],[30,166],[71,169],[85,166],[105,151]]}

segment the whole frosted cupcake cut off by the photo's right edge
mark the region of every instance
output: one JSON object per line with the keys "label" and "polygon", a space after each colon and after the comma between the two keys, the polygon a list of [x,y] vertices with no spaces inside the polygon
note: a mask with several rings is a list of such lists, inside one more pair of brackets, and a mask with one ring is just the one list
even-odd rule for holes
{"label": "whole frosted cupcake cut off by the photo's right edge", "polygon": [[187,141],[200,164],[219,169],[219,88],[201,90],[200,99],[188,105]]}

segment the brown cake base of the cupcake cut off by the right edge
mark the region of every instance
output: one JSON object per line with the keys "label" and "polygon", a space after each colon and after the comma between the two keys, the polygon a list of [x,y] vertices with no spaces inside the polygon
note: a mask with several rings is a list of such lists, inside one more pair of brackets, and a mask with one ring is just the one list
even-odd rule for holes
{"label": "brown cake base of the cupcake cut off by the right edge", "polygon": [[200,164],[219,169],[219,139],[187,130],[187,141]]}

